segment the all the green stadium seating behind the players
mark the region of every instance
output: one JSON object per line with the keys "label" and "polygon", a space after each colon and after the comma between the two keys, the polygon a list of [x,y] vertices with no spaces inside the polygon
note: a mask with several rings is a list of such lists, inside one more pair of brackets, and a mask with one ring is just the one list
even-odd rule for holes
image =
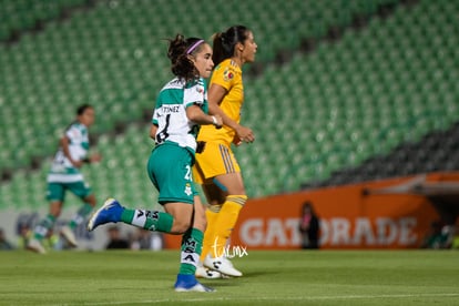
{"label": "all the green stadium seating behind the players", "polygon": [[[371,18],[359,31],[346,29],[339,40],[322,41],[314,52],[294,53],[292,61],[266,65],[258,78],[245,80],[243,123],[255,130],[257,141],[235,154],[249,196],[297,190],[358,166],[459,119],[459,75],[451,69],[459,62],[459,7],[447,0],[410,7],[398,2],[236,6],[216,0],[200,7],[178,0],[96,1],[92,10],[51,21],[12,47],[0,45],[0,126],[6,131],[0,167],[20,169],[31,156],[51,156],[74,108],[89,102],[98,111],[93,132],[102,134],[98,150],[104,160],[84,171],[98,197],[153,204],[155,192],[145,173],[152,145],[147,125],[130,125],[114,141],[109,133],[118,122],[141,121],[145,111],[152,112],[157,89],[171,78],[163,38],[185,32],[207,39],[230,24],[245,23],[255,31],[257,61],[271,63],[305,38],[320,40],[330,27],[346,28],[356,16],[396,6],[391,16]],[[80,3],[59,1],[58,7]],[[228,7],[231,17],[222,10]],[[24,207],[43,205],[47,166],[32,174],[17,170],[1,186],[8,200],[1,205],[12,205],[12,198]]]}

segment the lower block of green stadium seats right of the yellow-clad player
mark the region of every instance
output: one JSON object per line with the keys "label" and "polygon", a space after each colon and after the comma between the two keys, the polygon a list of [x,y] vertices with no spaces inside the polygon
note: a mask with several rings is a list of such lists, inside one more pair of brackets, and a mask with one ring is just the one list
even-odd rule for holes
{"label": "lower block of green stadium seats right of the yellow-clad player", "polygon": [[[305,174],[303,182],[326,178],[334,171],[358,165],[375,154],[387,153],[406,141],[418,141],[429,131],[446,130],[458,121],[458,106],[450,94],[456,88],[450,81],[450,74],[455,73],[450,69],[453,67],[455,57],[451,54],[455,49],[448,49],[457,41],[457,35],[440,35],[434,47],[426,44],[426,38],[422,38],[424,33],[435,37],[437,29],[442,32],[443,20],[452,21],[448,17],[434,18],[431,11],[422,7],[436,7],[436,12],[443,4],[427,4],[424,1],[419,8],[396,10],[391,18],[370,20],[367,29],[346,32],[336,44],[320,44],[307,57],[296,55],[280,69],[266,70],[263,78],[257,80],[262,84],[257,84],[257,81],[252,84],[255,91],[261,91],[266,82],[266,92],[247,96],[255,100],[259,96],[262,104],[266,105],[266,121],[287,119],[282,129],[273,126],[269,130],[276,134],[273,139],[284,140],[285,167],[306,165],[306,169],[312,169],[314,175]],[[367,9],[373,10],[365,8],[363,11]],[[450,16],[455,10],[440,11]],[[419,17],[424,14],[429,18]],[[418,24],[424,28],[417,30],[419,33],[408,34],[414,31],[409,22],[411,19],[421,20]],[[445,44],[445,40],[448,43]],[[313,76],[303,78],[307,74]],[[298,86],[296,78],[300,80]],[[278,89],[284,80],[288,80],[288,92]],[[271,102],[267,101],[269,96],[273,100]],[[252,102],[253,106],[247,103],[249,111],[261,105]],[[307,108],[314,110],[309,115],[305,111]],[[293,120],[298,113],[302,113],[300,121]],[[258,133],[268,129],[268,124],[258,123],[258,115],[248,115],[246,119],[247,124],[253,124]],[[313,137],[305,135],[299,142],[303,145],[298,147],[285,136],[288,135],[286,131]],[[350,145],[345,145],[346,135]],[[315,145],[310,145],[312,142]],[[255,156],[259,151],[272,150],[269,144],[255,145],[263,147],[254,153]],[[236,155],[247,153],[236,152]],[[298,154],[303,157],[297,157]],[[314,155],[317,157],[308,159]],[[245,166],[249,166],[249,160]],[[263,175],[265,173],[257,172],[256,166],[251,171],[254,178]],[[294,174],[284,176],[286,188],[295,190],[302,182],[289,176]]]}

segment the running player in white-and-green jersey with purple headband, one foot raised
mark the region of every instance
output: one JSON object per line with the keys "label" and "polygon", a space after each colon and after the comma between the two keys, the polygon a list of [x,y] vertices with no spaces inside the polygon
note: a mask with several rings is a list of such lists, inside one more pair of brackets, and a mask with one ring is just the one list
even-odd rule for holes
{"label": "running player in white-and-green jersey with purple headband, one foot raised", "polygon": [[153,113],[150,136],[155,140],[147,173],[160,192],[165,212],[130,210],[109,198],[90,218],[88,230],[123,222],[149,231],[183,235],[176,292],[212,292],[196,280],[206,226],[205,208],[195,192],[192,166],[201,124],[221,128],[220,115],[208,115],[205,78],[214,68],[212,48],[202,39],[176,35],[167,57],[176,75],[161,90]]}

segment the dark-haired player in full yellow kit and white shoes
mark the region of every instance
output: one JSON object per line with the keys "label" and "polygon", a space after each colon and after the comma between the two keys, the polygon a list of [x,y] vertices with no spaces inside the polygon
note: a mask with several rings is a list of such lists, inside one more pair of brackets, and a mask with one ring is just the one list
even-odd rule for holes
{"label": "dark-haired player in full yellow kit and white shoes", "polygon": [[[210,207],[206,210],[205,232],[201,263],[230,276],[242,276],[223,256],[223,249],[247,201],[239,165],[231,144],[253,142],[251,129],[239,124],[244,103],[242,68],[254,62],[257,44],[253,32],[244,26],[234,26],[214,34],[213,60],[216,65],[208,88],[210,113],[223,118],[224,128],[203,126],[197,136],[204,151],[196,155],[194,178],[201,183]],[[196,276],[218,277],[217,273],[198,267]]]}

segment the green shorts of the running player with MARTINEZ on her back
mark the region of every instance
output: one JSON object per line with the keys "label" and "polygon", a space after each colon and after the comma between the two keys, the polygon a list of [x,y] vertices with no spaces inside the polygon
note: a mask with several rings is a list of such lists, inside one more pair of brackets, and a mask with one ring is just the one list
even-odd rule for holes
{"label": "green shorts of the running player with MARTINEZ on her back", "polygon": [[160,192],[160,204],[171,202],[194,203],[196,190],[192,180],[192,153],[174,143],[156,146],[150,155],[146,170]]}

